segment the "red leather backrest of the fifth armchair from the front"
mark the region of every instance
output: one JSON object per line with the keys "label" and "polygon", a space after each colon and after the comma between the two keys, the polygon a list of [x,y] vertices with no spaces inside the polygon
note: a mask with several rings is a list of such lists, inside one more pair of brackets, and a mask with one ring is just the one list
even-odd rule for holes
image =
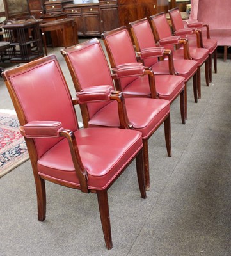
{"label": "red leather backrest of the fifth armchair from the front", "polygon": [[[160,40],[171,36],[171,29],[165,13],[152,17],[152,24],[155,24],[154,28]],[[173,45],[165,45],[164,48],[170,50],[174,49]]]}

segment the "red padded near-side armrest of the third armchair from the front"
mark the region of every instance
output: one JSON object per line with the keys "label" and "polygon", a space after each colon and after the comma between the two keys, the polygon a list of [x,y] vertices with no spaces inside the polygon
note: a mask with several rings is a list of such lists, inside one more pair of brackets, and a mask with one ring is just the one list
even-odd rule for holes
{"label": "red padded near-side armrest of the third armchair from the front", "polygon": [[142,63],[127,63],[116,68],[112,68],[112,70],[118,77],[142,76],[145,71],[145,67]]}

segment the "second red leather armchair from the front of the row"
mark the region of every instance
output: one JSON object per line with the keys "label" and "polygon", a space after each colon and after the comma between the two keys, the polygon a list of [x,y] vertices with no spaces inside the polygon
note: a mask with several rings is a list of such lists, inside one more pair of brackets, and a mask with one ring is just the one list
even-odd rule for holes
{"label": "second red leather armchair from the front of the row", "polygon": [[[150,99],[141,97],[128,97],[123,99],[123,93],[111,91],[110,99],[105,100],[104,90],[113,88],[113,79],[108,66],[108,61],[97,38],[88,40],[76,47],[61,50],[65,57],[77,97],[85,97],[81,100],[81,113],[84,127],[121,127],[142,132],[145,159],[145,188],[150,187],[148,139],[163,124],[165,127],[165,140],[168,156],[171,156],[171,127],[170,127],[170,102],[168,100]],[[146,74],[146,75],[145,75]],[[142,63],[130,63],[116,68],[114,79],[134,79],[144,76],[150,79],[149,86],[155,92],[154,75],[152,70],[143,67]],[[107,84],[107,86],[105,86]],[[109,86],[109,88],[107,88]],[[137,86],[142,86],[138,82]],[[101,92],[101,99],[92,102]],[[118,97],[116,98],[116,95]]]}

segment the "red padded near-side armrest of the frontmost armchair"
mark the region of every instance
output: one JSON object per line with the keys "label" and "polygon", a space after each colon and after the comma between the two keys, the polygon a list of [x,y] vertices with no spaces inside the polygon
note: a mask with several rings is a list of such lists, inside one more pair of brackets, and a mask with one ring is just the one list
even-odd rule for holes
{"label": "red padded near-side armrest of the frontmost armchair", "polygon": [[26,138],[59,137],[63,125],[58,121],[31,121],[20,126],[21,134]]}

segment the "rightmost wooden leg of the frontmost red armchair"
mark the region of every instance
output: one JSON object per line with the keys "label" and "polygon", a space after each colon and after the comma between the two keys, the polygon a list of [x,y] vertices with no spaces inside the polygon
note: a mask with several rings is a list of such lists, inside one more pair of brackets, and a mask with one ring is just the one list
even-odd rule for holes
{"label": "rightmost wooden leg of the frontmost red armchair", "polygon": [[143,150],[139,152],[138,156],[136,156],[136,172],[138,177],[139,191],[141,193],[141,198],[146,198],[145,191],[145,174],[144,174],[144,164],[143,164]]}

